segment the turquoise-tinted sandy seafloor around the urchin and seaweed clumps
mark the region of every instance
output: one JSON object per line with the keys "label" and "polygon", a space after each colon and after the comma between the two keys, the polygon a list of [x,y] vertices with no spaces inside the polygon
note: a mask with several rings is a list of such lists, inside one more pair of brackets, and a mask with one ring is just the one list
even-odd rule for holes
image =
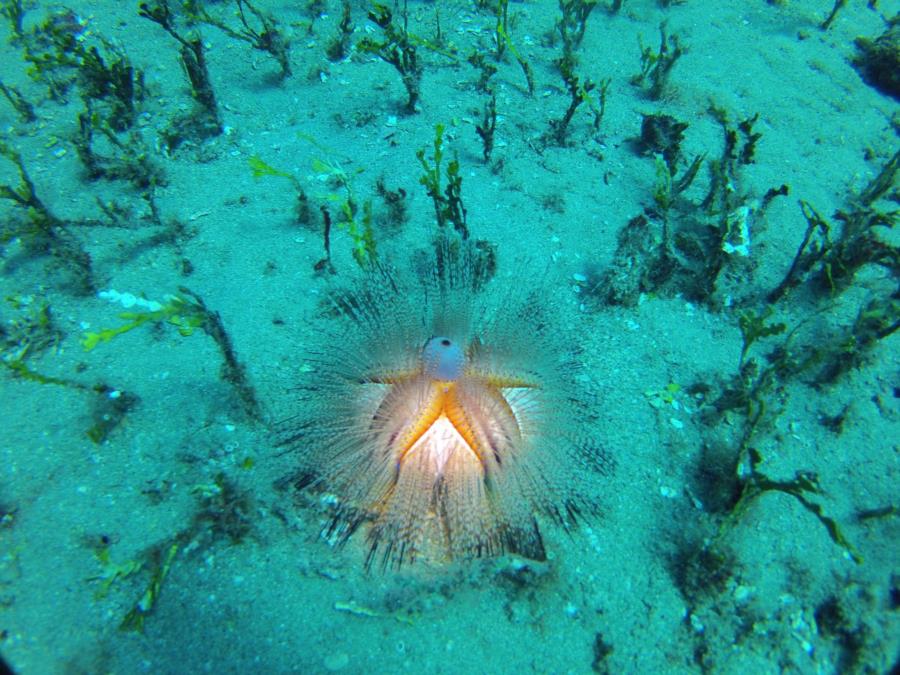
{"label": "turquoise-tinted sandy seafloor around the urchin and seaweed clumps", "polygon": [[[595,132],[589,113],[579,110],[572,145],[541,148],[548,121],[568,102],[552,66],[560,46],[543,39],[558,8],[547,0],[513,2],[512,37],[532,64],[536,87],[529,96],[508,55],[498,64],[496,148],[486,165],[475,123],[487,97],[474,87],[472,66],[420,49],[420,109],[406,115],[402,84],[389,65],[368,55],[326,59],[339,4],[323,2],[325,14],[311,31],[305,4],[258,3],[291,36],[294,73],[283,83],[267,54],[203,28],[225,133],[169,154],[159,132],[191,106],[173,39],[139,18],[131,2],[63,0],[27,14],[32,26],[50,9],[69,7],[89,21],[87,39],[120,42],[144,70],[149,95],[135,143],[165,173],[167,184],[156,190],[163,222],[187,227],[175,244],[155,239],[161,228],[127,182],[85,179],[70,141],[82,105],[77,88],[67,103],[48,99],[46,88],[25,75],[5,22],[0,75],[34,103],[37,120],[20,121],[0,101],[3,136],[21,152],[41,199],[65,222],[100,218],[98,199],[132,208],[127,228],[71,226],[93,259],[98,290],[161,300],[190,287],[220,313],[266,416],[276,419],[290,413],[292,382],[322,320],[319,299],[331,284],[353,283],[360,271],[347,234],[336,230],[337,274],[314,273],[321,235],[295,222],[290,183],[254,180],[249,158],[294,174],[314,208],[331,191],[315,175],[314,159],[339,162],[360,198],[382,211],[376,180],[403,188],[409,221],[394,228],[379,221],[376,229],[383,259],[403,265],[435,228],[415,155],[430,147],[434,125],[445,124],[448,152],[458,153],[469,226],[497,247],[492,283],[542,284],[546,302],[566,317],[561,335],[583,346],[599,383],[597,439],[617,464],[613,476],[597,482],[603,515],[571,534],[547,524],[544,563],[424,563],[366,573],[362,536],[342,548],[318,536],[327,511],[321,496],[273,487],[290,472],[292,458],[273,447],[265,425],[242,413],[220,379],[220,357],[208,337],[143,326],[86,352],[83,333],[121,323],[121,307],[72,292],[52,258],[28,254],[12,240],[0,259],[2,296],[48,303],[61,332],[52,348],[29,356],[29,368],[86,385],[107,382],[140,401],[95,444],[85,434],[94,394],[10,372],[0,378],[3,657],[22,673],[888,672],[900,648],[900,532],[896,515],[860,520],[858,514],[896,506],[900,497],[896,336],[834,385],[791,383],[781,414],[755,441],[767,475],[818,475],[823,492],[815,501],[862,562],[796,500],[767,494],[728,532],[734,559],[724,578],[691,592],[678,561],[712,536],[722,517],[698,497],[710,433],[684,387],[735,372],[741,350],[735,314],[653,295],[635,307],[589,308],[573,276],[602,272],[617,232],[652,205],[654,162],[632,141],[641,114],[688,122],[683,157],[715,157],[722,133],[706,112],[714,102],[733,120],[759,113],[756,130],[763,135],[755,163],[743,169],[741,190],[759,199],[770,187],[790,185],[790,196],[754,221],[750,259],[741,262],[748,294],[777,284],[806,227],[798,199],[830,217],[897,149],[896,102],[849,63],[855,37],[884,30],[879,13],[850,0],[823,32],[817,24],[830,2],[688,0],[662,8],[626,0],[616,15],[599,8],[578,51],[578,72],[610,78],[606,115]],[[351,2],[353,41],[379,35],[364,4]],[[231,7],[210,9],[236,25]],[[460,54],[492,48],[490,13],[462,0],[410,2],[410,31],[433,37],[438,9],[444,38]],[[898,9],[897,2],[879,3],[888,17]],[[629,80],[639,68],[638,36],[655,48],[662,20],[689,50],[654,101]],[[0,183],[18,184],[6,160]],[[699,202],[707,185],[703,170],[684,198]],[[0,202],[0,217],[16,213]],[[884,272],[865,268],[859,288],[845,297],[877,292],[885,282]],[[780,316],[796,321],[811,311],[791,302]],[[836,302],[828,311],[847,323],[856,310],[844,307],[854,305]],[[6,301],[0,317],[8,324],[22,311]],[[682,386],[678,405],[651,405],[646,392],[670,383]],[[820,423],[848,404],[841,434]],[[182,546],[172,561],[143,632],[120,630],[152,565],[100,593],[97,542],[105,538],[114,563],[146,562],[148,551],[165,548],[189,527],[219,474],[247,496],[250,533],[231,543],[201,528],[194,545]]]}

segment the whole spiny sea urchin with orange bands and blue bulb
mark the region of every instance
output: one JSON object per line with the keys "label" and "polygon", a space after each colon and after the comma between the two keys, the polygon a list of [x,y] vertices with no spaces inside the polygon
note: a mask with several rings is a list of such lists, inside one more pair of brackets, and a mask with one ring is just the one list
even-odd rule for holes
{"label": "whole spiny sea urchin with orange bands and blue bulb", "polygon": [[610,462],[571,322],[524,271],[489,268],[484,249],[444,240],[415,270],[372,270],[332,296],[309,349],[279,442],[298,487],[336,498],[326,533],[365,529],[367,565],[543,560],[541,521],[598,508]]}

